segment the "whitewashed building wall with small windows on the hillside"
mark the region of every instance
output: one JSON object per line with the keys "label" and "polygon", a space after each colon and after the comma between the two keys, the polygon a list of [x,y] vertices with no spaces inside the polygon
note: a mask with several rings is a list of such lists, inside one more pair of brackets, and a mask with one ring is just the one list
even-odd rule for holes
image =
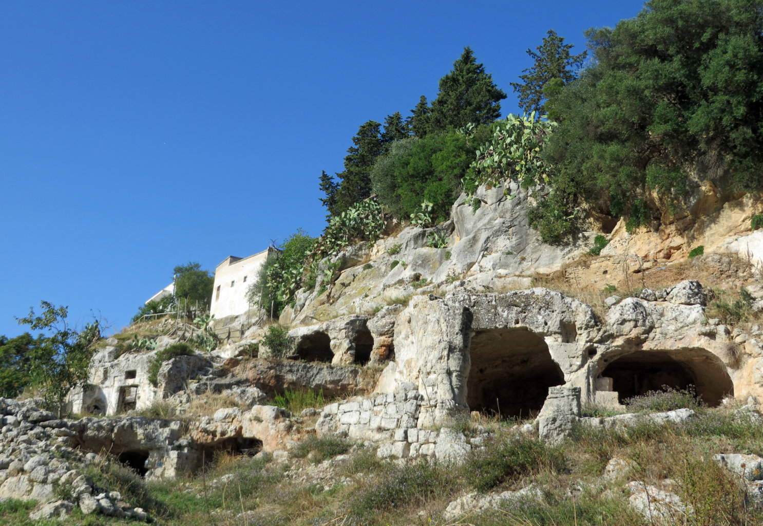
{"label": "whitewashed building wall with small windows on the hillside", "polygon": [[214,289],[210,313],[220,319],[241,315],[249,308],[246,289],[256,280],[260,267],[268,259],[269,248],[250,257],[229,256],[214,269]]}

